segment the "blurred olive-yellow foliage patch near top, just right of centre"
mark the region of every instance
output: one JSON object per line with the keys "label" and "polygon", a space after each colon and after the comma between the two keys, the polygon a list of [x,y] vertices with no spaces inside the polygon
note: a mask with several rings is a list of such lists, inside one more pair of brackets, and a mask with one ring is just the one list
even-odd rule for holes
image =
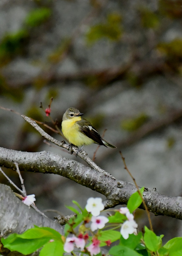
{"label": "blurred olive-yellow foliage patch near top, just right of centre", "polygon": [[100,23],[90,27],[90,30],[86,34],[86,42],[88,45],[95,43],[101,38],[108,38],[113,41],[119,40],[122,35],[121,20],[121,15],[111,13],[107,16],[106,23]]}

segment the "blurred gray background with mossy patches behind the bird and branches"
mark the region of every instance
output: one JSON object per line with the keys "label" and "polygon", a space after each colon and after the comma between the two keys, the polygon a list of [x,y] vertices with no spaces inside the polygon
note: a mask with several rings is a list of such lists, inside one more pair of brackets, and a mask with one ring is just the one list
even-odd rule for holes
{"label": "blurred gray background with mossy patches behind the bird and branches", "polygon": [[[40,102],[45,109],[53,97],[50,116],[59,128],[65,110],[76,107],[100,134],[107,129],[104,138],[117,149],[100,147],[97,165],[133,182],[121,150],[138,186],[182,196],[181,81],[182,0],[0,1],[1,147],[47,150],[83,163],[44,143],[16,114],[53,127],[40,108]],[[92,158],[96,148],[84,149]],[[20,186],[17,174],[5,171]],[[77,200],[85,206],[87,198],[100,196],[61,176],[22,175],[27,193],[36,195],[42,211],[71,214],[64,205]],[[8,184],[2,174],[0,182]],[[151,217],[164,241],[182,236],[180,220]],[[136,221],[140,230],[148,225],[145,211],[136,211]]]}

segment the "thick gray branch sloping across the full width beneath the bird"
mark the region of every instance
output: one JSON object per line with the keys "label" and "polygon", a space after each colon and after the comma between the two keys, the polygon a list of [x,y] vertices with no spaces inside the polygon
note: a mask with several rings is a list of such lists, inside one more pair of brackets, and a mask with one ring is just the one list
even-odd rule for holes
{"label": "thick gray branch sloping across the full width beneath the bird", "polygon": [[[136,191],[132,183],[119,181],[109,173],[98,172],[51,152],[29,153],[0,148],[0,166],[15,170],[14,162],[19,164],[20,171],[54,173],[89,187],[105,195],[106,208],[126,204]],[[146,189],[144,200],[152,213],[182,219],[182,197],[169,197],[158,194],[156,190]],[[144,208],[143,205],[140,208]]]}

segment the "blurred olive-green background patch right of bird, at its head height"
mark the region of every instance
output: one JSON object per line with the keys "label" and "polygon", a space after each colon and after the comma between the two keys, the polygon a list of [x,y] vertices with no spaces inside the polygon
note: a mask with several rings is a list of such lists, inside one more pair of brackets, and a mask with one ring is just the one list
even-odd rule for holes
{"label": "blurred olive-green background patch right of bird, at its head height", "polygon": [[143,125],[149,117],[145,113],[141,113],[135,118],[129,118],[121,122],[121,128],[127,131],[135,131]]}

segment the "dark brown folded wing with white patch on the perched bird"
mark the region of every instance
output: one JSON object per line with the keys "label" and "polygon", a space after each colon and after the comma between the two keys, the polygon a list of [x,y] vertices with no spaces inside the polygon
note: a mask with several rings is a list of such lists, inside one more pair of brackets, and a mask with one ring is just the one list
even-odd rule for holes
{"label": "dark brown folded wing with white patch on the perched bird", "polygon": [[[79,125],[80,131],[85,134],[88,138],[93,139],[93,141],[96,144],[105,146],[105,144],[102,142],[102,138],[100,137],[100,134],[98,131],[91,125],[90,122],[88,122],[85,119],[82,119],[77,122]],[[107,147],[107,146],[105,146]]]}

